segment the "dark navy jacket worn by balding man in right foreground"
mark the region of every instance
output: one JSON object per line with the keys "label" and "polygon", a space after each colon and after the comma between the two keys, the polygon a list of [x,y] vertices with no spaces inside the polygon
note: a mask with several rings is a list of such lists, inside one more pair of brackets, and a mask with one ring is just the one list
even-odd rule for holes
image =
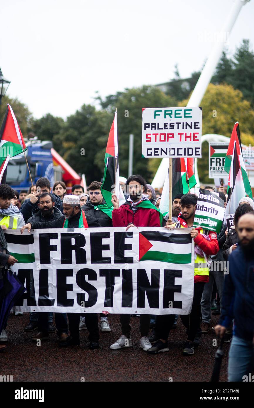
{"label": "dark navy jacket worn by balding man in right foreground", "polygon": [[229,257],[230,273],[225,275],[221,318],[228,327],[234,319],[234,335],[245,340],[254,337],[254,257],[247,260],[241,246]]}

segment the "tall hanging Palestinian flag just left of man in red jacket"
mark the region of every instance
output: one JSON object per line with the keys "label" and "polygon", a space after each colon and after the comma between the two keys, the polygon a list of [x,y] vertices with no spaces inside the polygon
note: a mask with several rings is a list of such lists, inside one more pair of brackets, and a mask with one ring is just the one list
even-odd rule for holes
{"label": "tall hanging Palestinian flag just left of man in red jacket", "polygon": [[108,208],[112,207],[112,190],[115,185],[115,195],[119,199],[119,204],[126,200],[119,183],[119,166],[118,166],[118,142],[117,142],[117,111],[108,135],[108,143],[104,158],[105,168],[104,177],[101,186],[101,192],[106,201]]}

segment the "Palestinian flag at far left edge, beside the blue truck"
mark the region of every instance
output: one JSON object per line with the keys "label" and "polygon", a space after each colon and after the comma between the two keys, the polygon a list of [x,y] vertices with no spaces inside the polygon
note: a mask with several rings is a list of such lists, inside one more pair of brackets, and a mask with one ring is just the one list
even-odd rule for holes
{"label": "Palestinian flag at far left edge, beside the blue truck", "polygon": [[27,148],[17,119],[11,109],[11,105],[7,104],[4,120],[0,129],[0,166],[7,155],[13,157],[26,150]]}

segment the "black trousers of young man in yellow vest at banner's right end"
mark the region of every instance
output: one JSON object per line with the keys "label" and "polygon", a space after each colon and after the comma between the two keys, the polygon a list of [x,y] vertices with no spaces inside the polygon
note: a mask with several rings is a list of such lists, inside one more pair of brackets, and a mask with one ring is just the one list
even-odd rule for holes
{"label": "black trousers of young man in yellow vest at banner's right end", "polygon": [[186,327],[186,334],[188,340],[193,341],[197,333],[201,333],[200,316],[201,308],[200,302],[204,290],[205,282],[194,283],[193,302],[190,315],[180,315],[181,321]]}

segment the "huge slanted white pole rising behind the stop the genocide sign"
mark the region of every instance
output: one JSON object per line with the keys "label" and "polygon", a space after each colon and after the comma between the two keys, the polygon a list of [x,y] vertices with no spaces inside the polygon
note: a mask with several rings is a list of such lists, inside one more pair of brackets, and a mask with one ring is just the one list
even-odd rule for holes
{"label": "huge slanted white pole rising behind the stop the genocide sign", "polygon": [[[221,56],[221,53],[223,51],[224,45],[225,45],[225,40],[227,40],[227,35],[230,34],[230,31],[232,30],[232,27],[234,26],[234,23],[236,22],[236,18],[240,13],[241,8],[250,0],[235,0],[234,4],[232,5],[232,9],[230,13],[228,13],[227,18],[225,19],[225,23],[223,24],[223,28],[221,30],[221,33],[223,34],[223,41],[218,41],[214,44],[214,47],[212,49],[212,52],[209,55],[208,60],[205,63],[205,67],[203,68],[203,71],[200,74],[199,80],[190,96],[190,99],[188,100],[187,106],[199,106],[201,104],[202,98],[205,94],[205,91],[210,83],[210,80],[212,78],[212,75],[215,71],[215,68],[219,62],[219,58]],[[158,170],[155,174],[155,177],[159,180],[164,180],[165,179],[165,173],[162,174],[162,169],[165,166],[163,165],[163,161],[168,160],[167,157],[161,160],[161,163],[158,167]],[[154,187],[159,187],[155,186],[154,180],[155,177],[152,181],[152,186]],[[199,187],[200,182],[199,182],[199,173],[197,169],[197,159],[195,159],[195,178],[197,181],[197,187]]]}

